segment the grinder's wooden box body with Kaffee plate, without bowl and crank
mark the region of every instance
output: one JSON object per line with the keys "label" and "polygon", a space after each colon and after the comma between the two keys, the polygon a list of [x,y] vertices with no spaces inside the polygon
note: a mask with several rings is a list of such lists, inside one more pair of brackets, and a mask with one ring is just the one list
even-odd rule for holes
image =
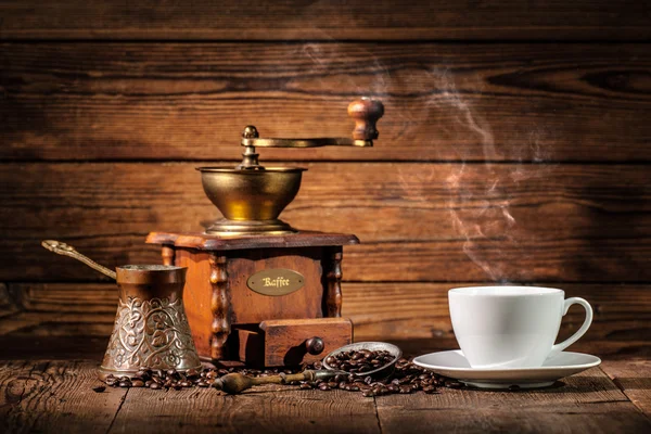
{"label": "grinder's wooden box body with Kaffee plate, without bowl and crank", "polygon": [[204,360],[297,366],[353,340],[341,280],[354,235],[152,232],[148,243],[162,245],[164,264],[188,267],[183,303]]}

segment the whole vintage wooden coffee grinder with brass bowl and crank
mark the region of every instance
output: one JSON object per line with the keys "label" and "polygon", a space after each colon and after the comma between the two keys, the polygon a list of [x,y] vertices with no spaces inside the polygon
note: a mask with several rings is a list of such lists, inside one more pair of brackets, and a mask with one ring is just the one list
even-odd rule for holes
{"label": "whole vintage wooden coffee grinder with brass bowl and crank", "polygon": [[301,167],[266,167],[256,148],[372,146],[380,101],[348,105],[353,138],[260,138],[242,133],[241,164],[199,167],[203,188],[224,218],[204,232],[152,232],[163,264],[187,267],[183,304],[196,350],[220,365],[297,366],[353,341],[341,318],[344,245],[353,234],[301,231],[278,216],[301,186]]}

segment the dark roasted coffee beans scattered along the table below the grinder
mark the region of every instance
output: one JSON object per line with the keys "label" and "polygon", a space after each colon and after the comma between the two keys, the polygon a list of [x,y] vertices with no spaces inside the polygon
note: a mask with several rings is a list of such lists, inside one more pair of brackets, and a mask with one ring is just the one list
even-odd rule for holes
{"label": "dark roasted coffee beans scattered along the table below the grinder", "polygon": [[[379,360],[380,363],[376,363]],[[383,361],[386,360],[386,361]],[[363,396],[373,397],[390,394],[411,394],[422,391],[426,394],[437,392],[439,387],[461,388],[463,385],[457,381],[443,378],[434,372],[426,371],[413,365],[406,358],[396,361],[393,373],[384,379],[374,379],[371,375],[363,375],[363,372],[369,372],[374,366],[382,367],[385,362],[393,360],[393,356],[386,352],[348,352],[341,358],[335,360],[327,360],[332,368],[346,370],[349,374],[337,374],[329,380],[317,380],[316,382],[294,381],[289,384],[299,386],[302,390],[318,390],[332,391],[341,390],[348,392],[360,392]],[[357,363],[350,363],[355,361]],[[372,369],[367,368],[370,367]],[[176,369],[161,370],[141,368],[133,376],[114,376],[108,375],[105,380],[108,386],[113,387],[149,387],[152,390],[169,390],[180,391],[187,387],[218,387],[217,380],[219,376],[228,373],[238,372],[250,376],[268,376],[278,375],[281,373],[291,374],[302,372],[305,369],[319,370],[323,368],[323,363],[316,362],[314,365],[303,366],[301,369],[246,369],[246,368],[230,368],[230,369],[205,369],[196,371],[190,369],[188,371],[177,371]],[[346,369],[348,368],[348,369]],[[363,368],[365,371],[359,371]],[[354,372],[352,370],[356,369]]]}

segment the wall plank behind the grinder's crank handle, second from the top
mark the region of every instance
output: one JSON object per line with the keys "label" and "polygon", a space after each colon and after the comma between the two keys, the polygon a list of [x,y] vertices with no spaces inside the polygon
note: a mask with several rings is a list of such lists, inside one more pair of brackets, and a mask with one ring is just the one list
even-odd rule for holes
{"label": "wall plank behind the grinder's crank handle, second from the top", "polygon": [[265,149],[263,161],[649,162],[649,52],[640,43],[3,43],[0,158],[234,161],[250,124],[263,137],[349,137],[346,106],[370,94],[386,106],[374,148]]}

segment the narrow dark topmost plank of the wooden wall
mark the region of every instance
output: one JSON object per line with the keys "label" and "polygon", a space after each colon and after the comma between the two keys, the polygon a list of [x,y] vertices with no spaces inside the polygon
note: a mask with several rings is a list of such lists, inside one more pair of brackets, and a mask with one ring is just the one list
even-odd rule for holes
{"label": "narrow dark topmost plank of the wooden wall", "polygon": [[0,2],[13,39],[649,39],[643,2]]}

